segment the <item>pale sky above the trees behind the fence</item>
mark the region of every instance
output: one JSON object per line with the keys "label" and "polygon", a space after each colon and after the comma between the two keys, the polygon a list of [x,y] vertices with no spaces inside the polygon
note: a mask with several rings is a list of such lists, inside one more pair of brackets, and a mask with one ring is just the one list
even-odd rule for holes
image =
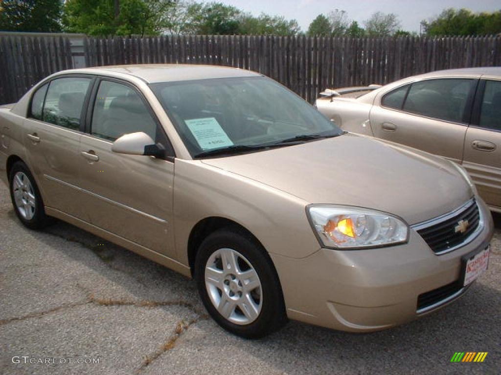
{"label": "pale sky above the trees behind the fence", "polygon": [[472,11],[494,11],[501,9],[499,0],[217,0],[236,6],[254,15],[265,12],[283,15],[287,19],[297,19],[303,31],[308,30],[310,22],[320,13],[331,10],[345,10],[349,19],[363,21],[372,13],[397,14],[402,29],[419,32],[419,23],[438,15],[444,8],[468,8]]}

